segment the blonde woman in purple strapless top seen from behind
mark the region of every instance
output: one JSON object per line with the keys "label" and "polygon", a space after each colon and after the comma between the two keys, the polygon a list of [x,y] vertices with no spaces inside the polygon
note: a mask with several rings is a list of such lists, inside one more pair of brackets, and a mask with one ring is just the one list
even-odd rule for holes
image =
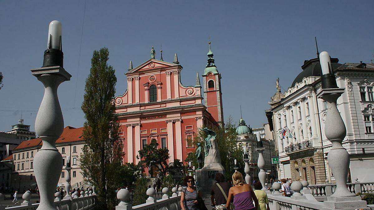
{"label": "blonde woman in purple strapless top seen from behind", "polygon": [[[227,199],[226,208],[230,210],[230,203],[234,198],[235,210],[257,209],[258,200],[251,185],[244,184],[243,175],[235,172],[232,176],[233,187],[229,190],[229,198]],[[254,201],[254,205],[253,205]]]}

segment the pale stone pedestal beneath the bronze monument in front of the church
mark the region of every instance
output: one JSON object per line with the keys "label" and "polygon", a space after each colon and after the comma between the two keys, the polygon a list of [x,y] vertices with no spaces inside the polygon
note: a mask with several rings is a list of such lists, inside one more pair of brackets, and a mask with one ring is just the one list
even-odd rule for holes
{"label": "pale stone pedestal beneath the bronze monument in front of the church", "polygon": [[203,198],[210,197],[212,185],[215,183],[215,174],[224,174],[225,172],[225,169],[221,164],[220,151],[218,150],[217,141],[212,138],[211,144],[212,148],[209,149],[209,154],[204,159],[204,167],[196,170],[197,186],[199,186]]}

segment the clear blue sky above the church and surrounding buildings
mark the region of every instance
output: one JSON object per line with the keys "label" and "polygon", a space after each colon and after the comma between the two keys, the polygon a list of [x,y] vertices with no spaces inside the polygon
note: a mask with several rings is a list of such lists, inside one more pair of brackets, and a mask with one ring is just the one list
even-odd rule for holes
{"label": "clear blue sky above the church and surrounding buildings", "polygon": [[[82,48],[79,49],[85,1],[0,1],[0,131],[18,118],[34,130],[44,88],[30,69],[41,67],[48,24],[62,22],[64,68],[73,76],[59,87],[65,126],[83,126],[80,109],[93,50],[108,47],[116,69],[117,95],[126,90],[129,60],[134,67],[150,58],[173,61],[178,53],[185,85],[203,74],[211,37],[222,75],[227,119],[243,118],[252,127],[266,123],[264,109],[301,71],[305,59],[326,50],[340,63],[370,62],[374,50],[374,1],[101,1],[87,0]],[[77,85],[76,85],[77,84]],[[10,111],[4,111],[10,110]],[[18,111],[17,111],[18,110]]]}

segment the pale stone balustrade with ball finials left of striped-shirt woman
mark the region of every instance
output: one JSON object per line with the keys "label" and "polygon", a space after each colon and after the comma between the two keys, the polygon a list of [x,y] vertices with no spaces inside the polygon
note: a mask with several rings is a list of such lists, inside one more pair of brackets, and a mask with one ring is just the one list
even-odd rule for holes
{"label": "pale stone balustrade with ball finials left of striped-shirt woman", "polygon": [[130,209],[137,209],[137,210],[180,210],[180,201],[181,196],[178,192],[178,189],[174,187],[172,189],[172,196],[169,196],[169,189],[163,188],[162,189],[162,197],[157,199],[159,195],[156,194],[156,191],[153,188],[147,189],[148,199],[145,201],[144,204],[140,204],[137,206],[132,206],[129,203],[130,200],[130,192],[127,189],[120,189],[117,192],[117,198],[120,200],[118,206],[116,206],[116,210],[130,210]]}

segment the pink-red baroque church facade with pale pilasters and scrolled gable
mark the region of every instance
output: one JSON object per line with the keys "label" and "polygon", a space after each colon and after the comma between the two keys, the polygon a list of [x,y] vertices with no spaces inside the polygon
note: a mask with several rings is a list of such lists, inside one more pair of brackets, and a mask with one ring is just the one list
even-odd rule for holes
{"label": "pink-red baroque church facade with pale pilasters and scrolled gable", "polygon": [[[208,84],[203,84],[204,92],[208,93],[205,104],[215,110],[211,114],[203,104],[199,76],[196,85],[182,85],[182,66],[177,55],[173,63],[151,58],[135,68],[131,64],[130,68],[126,73],[128,89],[114,99],[122,129],[123,161],[137,164],[138,151],[153,139],[160,147],[169,149],[169,163],[175,159],[184,161],[194,151],[193,139],[198,129],[220,126],[223,121],[223,115],[218,116],[223,113],[220,80],[215,84],[219,93],[216,88],[208,90]],[[217,107],[221,110],[217,111]]]}

